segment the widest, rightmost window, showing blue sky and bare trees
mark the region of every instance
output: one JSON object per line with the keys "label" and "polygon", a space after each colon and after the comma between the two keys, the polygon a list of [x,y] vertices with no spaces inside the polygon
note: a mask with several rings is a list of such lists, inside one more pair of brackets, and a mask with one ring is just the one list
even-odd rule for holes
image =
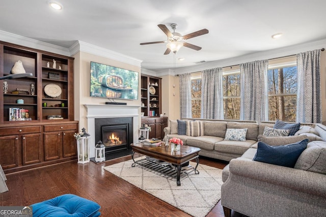
{"label": "widest, rightmost window, showing blue sky and bare trees", "polygon": [[295,61],[268,67],[268,119],[295,122],[297,70]]}

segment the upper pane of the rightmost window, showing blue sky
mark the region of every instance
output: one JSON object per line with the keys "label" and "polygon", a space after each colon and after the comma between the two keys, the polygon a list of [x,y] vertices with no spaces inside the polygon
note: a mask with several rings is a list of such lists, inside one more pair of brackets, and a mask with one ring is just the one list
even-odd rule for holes
{"label": "upper pane of the rightmost window, showing blue sky", "polygon": [[268,70],[268,94],[296,94],[296,66]]}

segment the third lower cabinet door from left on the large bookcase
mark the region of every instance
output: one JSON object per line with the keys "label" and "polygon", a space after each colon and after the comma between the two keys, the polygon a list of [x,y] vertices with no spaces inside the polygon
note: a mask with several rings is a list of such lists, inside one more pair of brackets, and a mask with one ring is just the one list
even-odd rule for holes
{"label": "third lower cabinet door from left on the large bookcase", "polygon": [[62,147],[60,132],[44,133],[44,160],[50,161],[60,158]]}

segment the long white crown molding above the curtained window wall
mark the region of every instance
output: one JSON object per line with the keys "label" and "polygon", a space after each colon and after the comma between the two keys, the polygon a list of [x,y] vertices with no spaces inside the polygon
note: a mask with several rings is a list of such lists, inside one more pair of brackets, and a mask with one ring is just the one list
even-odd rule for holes
{"label": "long white crown molding above the curtained window wall", "polygon": [[[234,66],[234,65],[248,63],[250,61],[255,61],[259,59],[280,58],[283,56],[295,55],[297,53],[302,53],[309,50],[316,50],[321,48],[326,48],[326,39],[308,42],[308,43],[301,43],[301,44],[296,44],[296,45],[291,45],[291,46],[276,48],[271,50],[259,51],[259,52],[236,56],[227,59],[208,61],[206,63],[194,65],[191,67],[177,68],[176,74],[184,74],[188,72],[191,73],[200,72],[206,69]],[[167,70],[165,70],[164,72],[158,72],[157,74],[159,74],[160,76],[167,75]]]}

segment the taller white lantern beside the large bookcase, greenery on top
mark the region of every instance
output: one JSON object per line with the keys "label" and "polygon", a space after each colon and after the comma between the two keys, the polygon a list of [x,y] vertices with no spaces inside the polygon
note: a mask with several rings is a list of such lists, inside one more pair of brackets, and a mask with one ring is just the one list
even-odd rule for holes
{"label": "taller white lantern beside the large bookcase, greenery on top", "polygon": [[86,133],[85,128],[82,129],[83,136],[77,139],[77,154],[78,164],[85,164],[90,162],[90,137],[91,135]]}

